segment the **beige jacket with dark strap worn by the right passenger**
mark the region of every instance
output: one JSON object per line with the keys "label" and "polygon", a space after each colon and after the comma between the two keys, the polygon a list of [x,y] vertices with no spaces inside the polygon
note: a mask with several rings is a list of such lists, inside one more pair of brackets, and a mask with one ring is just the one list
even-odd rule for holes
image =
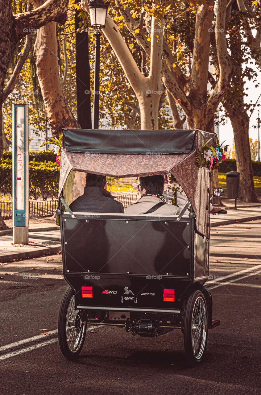
{"label": "beige jacket with dark strap worn by the right passenger", "polygon": [[[137,203],[131,204],[129,207],[126,208],[125,214],[144,214],[148,211],[151,207],[155,206],[157,203],[160,203],[162,200],[160,198],[156,198],[154,196],[143,196],[143,198],[139,199]],[[180,213],[180,208],[174,206],[172,204],[165,204],[158,208],[158,210],[153,211],[148,215],[175,215]]]}

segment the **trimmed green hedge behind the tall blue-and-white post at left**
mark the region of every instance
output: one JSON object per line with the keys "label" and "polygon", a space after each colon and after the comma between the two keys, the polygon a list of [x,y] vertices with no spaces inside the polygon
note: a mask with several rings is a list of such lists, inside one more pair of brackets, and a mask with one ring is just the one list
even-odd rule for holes
{"label": "trimmed green hedge behind the tall blue-and-white post at left", "polygon": [[[9,159],[6,160],[9,162]],[[56,162],[29,162],[29,193],[34,199],[58,195],[60,167]],[[0,194],[12,194],[12,164],[0,161]]]}

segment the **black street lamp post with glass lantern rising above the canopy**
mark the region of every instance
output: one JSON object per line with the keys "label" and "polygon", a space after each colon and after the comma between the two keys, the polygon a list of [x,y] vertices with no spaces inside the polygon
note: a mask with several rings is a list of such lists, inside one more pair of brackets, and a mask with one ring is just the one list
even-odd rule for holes
{"label": "black street lamp post with glass lantern rising above the canopy", "polygon": [[[83,2],[82,2],[83,4]],[[95,36],[95,69],[94,69],[94,95],[93,95],[93,128],[99,129],[99,103],[100,103],[100,38],[101,29],[105,28],[109,2],[103,0],[88,1],[90,22],[94,28]]]}

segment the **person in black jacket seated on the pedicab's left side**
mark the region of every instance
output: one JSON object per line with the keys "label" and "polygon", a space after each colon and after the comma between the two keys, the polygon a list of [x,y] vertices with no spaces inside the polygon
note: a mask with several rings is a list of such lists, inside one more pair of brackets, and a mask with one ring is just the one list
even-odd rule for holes
{"label": "person in black jacket seated on the pedicab's left side", "polygon": [[114,199],[107,191],[105,175],[87,173],[83,195],[75,199],[69,208],[87,213],[124,213],[122,203]]}

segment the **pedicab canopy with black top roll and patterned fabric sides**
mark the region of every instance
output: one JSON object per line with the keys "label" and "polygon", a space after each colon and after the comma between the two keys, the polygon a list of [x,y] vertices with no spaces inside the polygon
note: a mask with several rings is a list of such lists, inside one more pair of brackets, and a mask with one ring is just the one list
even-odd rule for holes
{"label": "pedicab canopy with black top roll and patterned fabric sides", "polygon": [[207,141],[215,146],[216,135],[202,130],[64,129],[59,196],[75,171],[112,177],[171,172],[192,204],[198,231],[208,237],[210,171],[195,161]]}

